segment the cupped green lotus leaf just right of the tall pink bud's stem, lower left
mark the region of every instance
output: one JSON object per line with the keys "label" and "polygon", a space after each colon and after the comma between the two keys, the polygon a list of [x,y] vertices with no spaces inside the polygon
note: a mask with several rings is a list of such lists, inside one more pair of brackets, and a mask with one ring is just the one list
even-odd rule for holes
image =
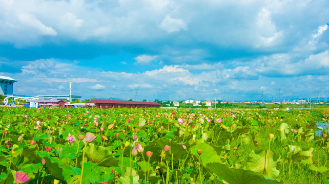
{"label": "cupped green lotus leaf just right of the tall pink bud's stem, lower left", "polygon": [[93,163],[97,163],[99,166],[117,166],[119,160],[115,159],[111,152],[102,146],[95,146],[89,144],[86,148],[86,156]]}

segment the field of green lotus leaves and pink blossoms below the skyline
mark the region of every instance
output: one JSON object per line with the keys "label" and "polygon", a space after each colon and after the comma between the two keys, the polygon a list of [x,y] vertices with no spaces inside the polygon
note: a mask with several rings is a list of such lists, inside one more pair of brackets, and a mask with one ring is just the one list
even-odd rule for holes
{"label": "field of green lotus leaves and pink blossoms below the skyline", "polygon": [[0,107],[0,183],[329,183],[311,110]]}

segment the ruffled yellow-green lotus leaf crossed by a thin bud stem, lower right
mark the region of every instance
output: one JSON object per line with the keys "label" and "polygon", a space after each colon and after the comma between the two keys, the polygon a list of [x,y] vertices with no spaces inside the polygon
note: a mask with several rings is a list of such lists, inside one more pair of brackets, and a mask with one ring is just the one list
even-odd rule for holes
{"label": "ruffled yellow-green lotus leaf crossed by a thin bud stem, lower right", "polygon": [[279,155],[270,150],[255,150],[251,154],[252,159],[248,162],[250,170],[257,174],[263,174],[271,178],[278,177],[280,171],[277,170]]}

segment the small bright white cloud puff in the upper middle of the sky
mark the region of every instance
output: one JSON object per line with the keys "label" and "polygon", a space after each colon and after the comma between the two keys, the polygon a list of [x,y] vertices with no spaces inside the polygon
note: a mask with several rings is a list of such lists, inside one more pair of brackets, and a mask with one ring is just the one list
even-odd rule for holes
{"label": "small bright white cloud puff in the upper middle of the sky", "polygon": [[180,30],[188,30],[187,24],[181,18],[172,18],[170,15],[167,15],[161,22],[161,29],[167,31],[168,33],[178,32]]}

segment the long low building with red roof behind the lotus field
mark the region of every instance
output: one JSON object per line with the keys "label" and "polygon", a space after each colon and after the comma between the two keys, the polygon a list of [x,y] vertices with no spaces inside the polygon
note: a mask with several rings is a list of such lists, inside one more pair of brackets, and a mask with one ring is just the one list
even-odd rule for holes
{"label": "long low building with red roof behind the lotus field", "polygon": [[123,100],[92,100],[87,103],[95,104],[96,108],[160,108],[156,102],[136,102]]}

